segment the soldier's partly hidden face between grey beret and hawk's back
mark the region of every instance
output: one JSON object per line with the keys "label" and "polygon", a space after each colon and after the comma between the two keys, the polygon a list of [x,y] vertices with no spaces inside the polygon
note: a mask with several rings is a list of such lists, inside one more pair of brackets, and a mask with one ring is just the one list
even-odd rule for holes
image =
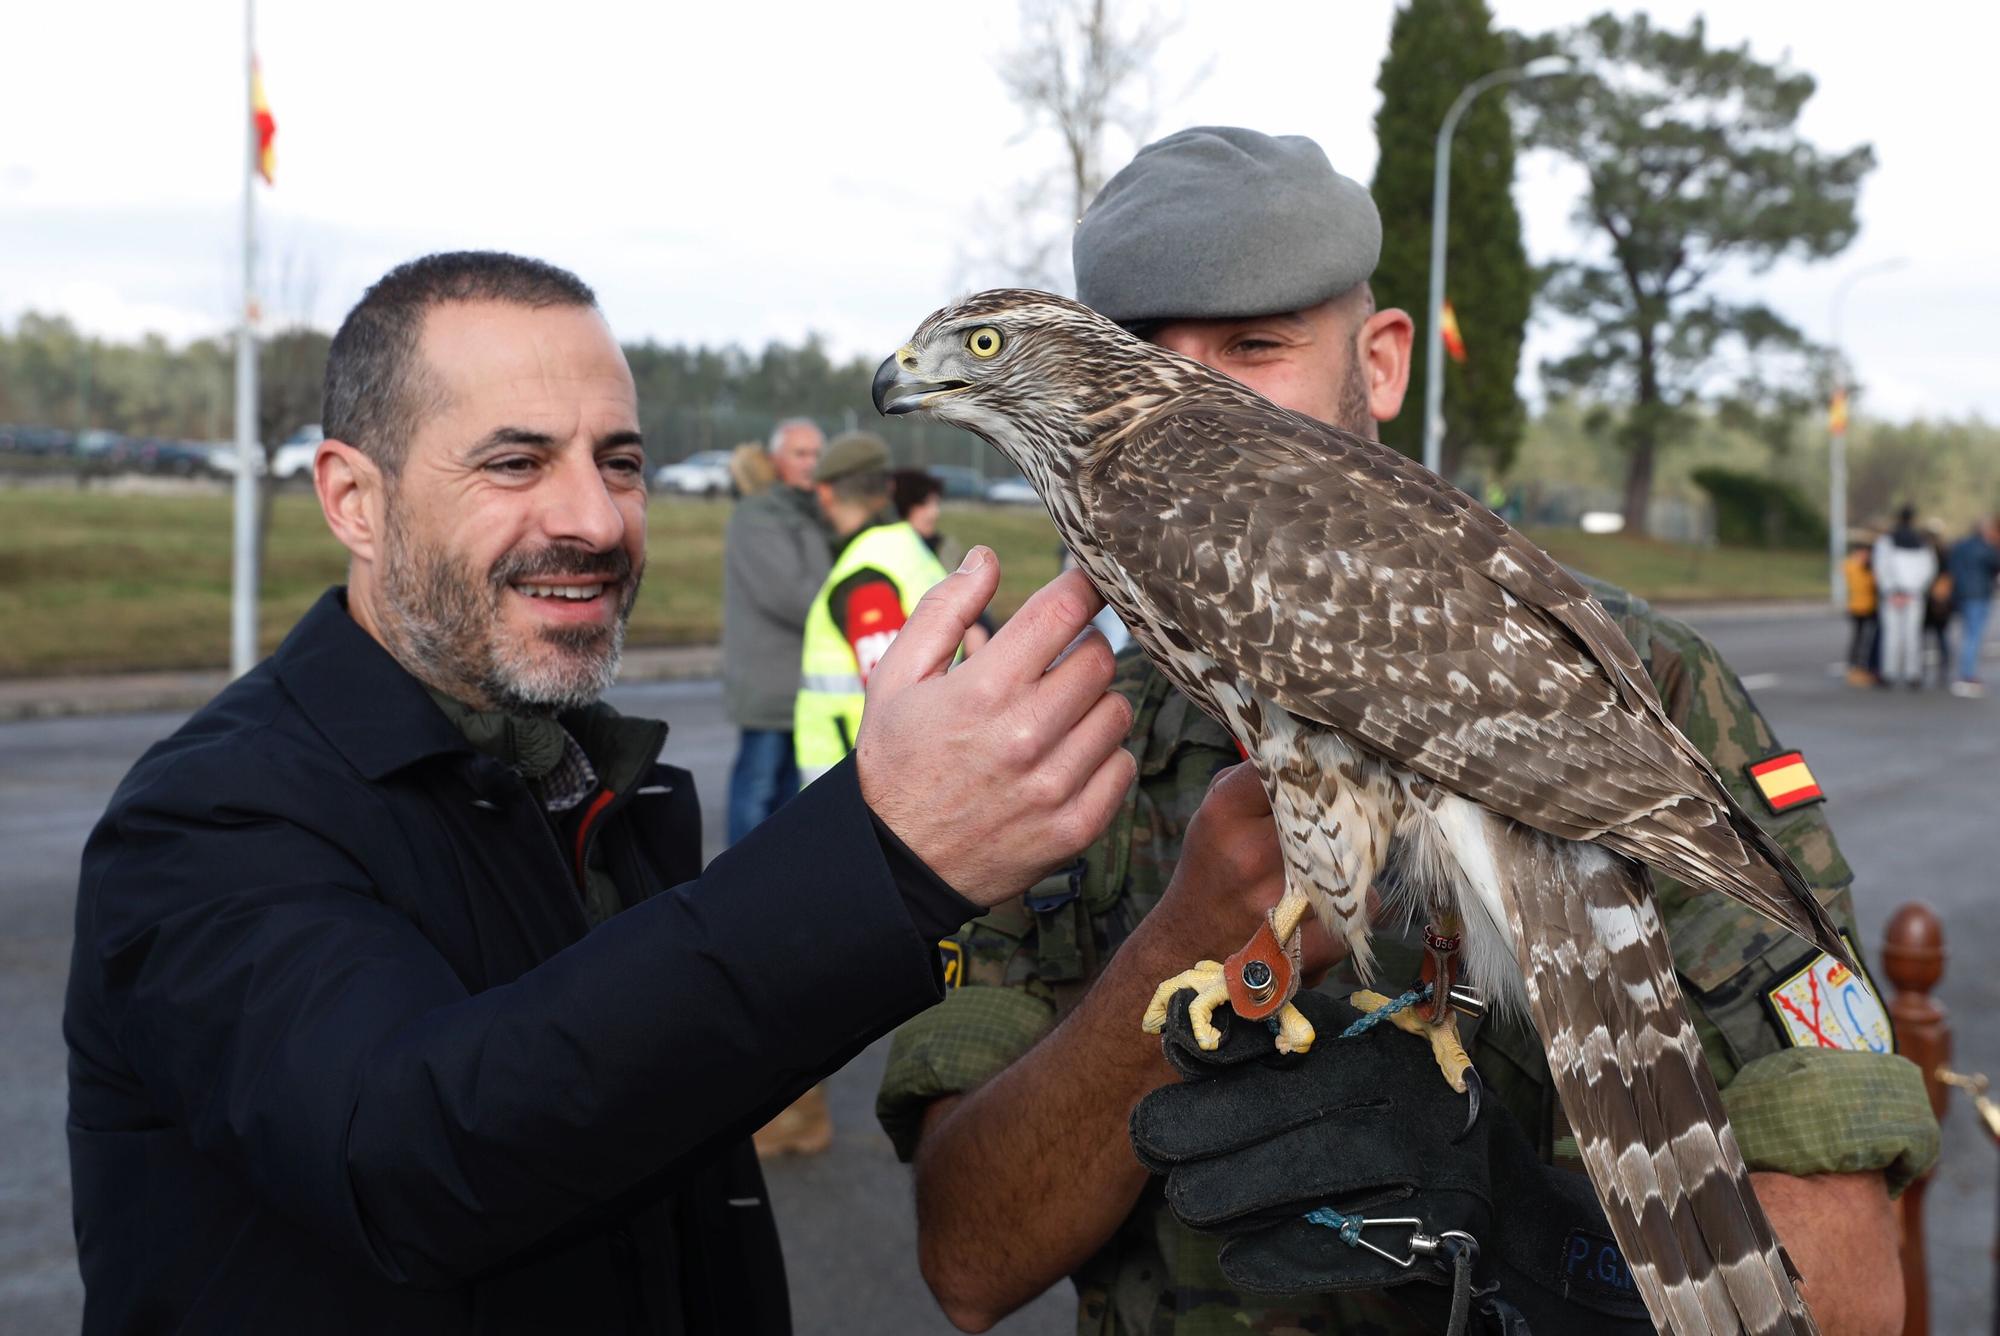
{"label": "soldier's partly hidden face between grey beret and hawk's back", "polygon": [[1368,314],[1356,294],[1244,320],[1174,320],[1152,340],[1240,380],[1280,408],[1374,438],[1402,408],[1410,318]]}

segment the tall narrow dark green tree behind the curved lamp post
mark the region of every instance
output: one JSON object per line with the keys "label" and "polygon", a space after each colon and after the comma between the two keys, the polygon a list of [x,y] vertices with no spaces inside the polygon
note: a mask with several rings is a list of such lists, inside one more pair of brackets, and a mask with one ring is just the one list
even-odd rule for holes
{"label": "tall narrow dark green tree behind the curved lamp post", "polygon": [[[1494,32],[1486,0],[1408,0],[1390,30],[1376,86],[1374,198],[1382,210],[1378,306],[1400,306],[1416,320],[1410,398],[1382,440],[1424,454],[1424,348],[1430,320],[1430,186],[1438,126],[1452,98],[1482,74],[1514,64]],[[1520,340],[1534,298],[1534,276],[1520,246],[1514,212],[1514,126],[1508,92],[1482,94],[1452,136],[1452,202],[1444,240],[1446,298],[1458,314],[1466,362],[1444,362],[1444,472],[1466,452],[1504,470],[1520,444],[1524,410],[1514,392]]]}

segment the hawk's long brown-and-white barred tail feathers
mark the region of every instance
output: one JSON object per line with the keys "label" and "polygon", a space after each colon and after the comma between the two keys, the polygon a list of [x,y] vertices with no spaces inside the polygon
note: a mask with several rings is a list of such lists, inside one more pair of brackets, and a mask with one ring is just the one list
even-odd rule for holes
{"label": "hawk's long brown-and-white barred tail feathers", "polygon": [[1488,832],[1550,1074],[1654,1324],[1818,1332],[1682,1006],[1646,870],[1498,816]]}

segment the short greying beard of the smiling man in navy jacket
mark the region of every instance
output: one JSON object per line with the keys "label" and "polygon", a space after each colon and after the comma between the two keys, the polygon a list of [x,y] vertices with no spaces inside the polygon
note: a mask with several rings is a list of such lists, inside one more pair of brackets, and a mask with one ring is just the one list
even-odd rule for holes
{"label": "short greying beard of the smiling man in navy jacket", "polygon": [[[624,628],[644,574],[644,566],[632,570],[622,548],[554,546],[508,552],[480,576],[442,548],[416,542],[392,502],[382,536],[382,638],[410,674],[446,696],[508,714],[560,714],[594,702],[618,678]],[[502,638],[500,600],[510,584],[532,576],[616,582],[618,620],[608,628],[544,628],[534,646]]]}

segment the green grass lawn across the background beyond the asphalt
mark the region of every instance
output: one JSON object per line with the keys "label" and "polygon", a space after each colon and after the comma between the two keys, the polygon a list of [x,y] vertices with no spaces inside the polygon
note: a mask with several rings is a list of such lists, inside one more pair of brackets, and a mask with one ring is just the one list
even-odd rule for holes
{"label": "green grass lawn across the background beyond the asphalt", "polygon": [[[630,644],[714,644],[728,504],[656,498],[650,568]],[[1000,554],[994,612],[1006,616],[1056,574],[1056,534],[1038,508],[946,508],[946,532]],[[1810,552],[1682,548],[1540,532],[1562,560],[1648,598],[1820,598]],[[272,648],[344,552],[308,494],[278,498],[258,616]],[[230,498],[0,490],[0,676],[218,668],[228,662]]]}

